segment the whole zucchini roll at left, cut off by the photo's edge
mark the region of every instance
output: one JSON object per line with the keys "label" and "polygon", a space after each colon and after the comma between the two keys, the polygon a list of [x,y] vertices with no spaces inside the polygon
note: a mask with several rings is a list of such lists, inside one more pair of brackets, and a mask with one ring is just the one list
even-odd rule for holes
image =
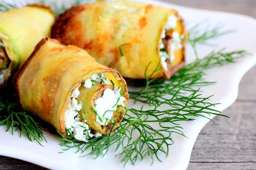
{"label": "whole zucchini roll at left, cut off by the photo's edge", "polygon": [[0,14],[0,87],[23,65],[35,45],[50,35],[54,21],[51,9],[41,4]]}

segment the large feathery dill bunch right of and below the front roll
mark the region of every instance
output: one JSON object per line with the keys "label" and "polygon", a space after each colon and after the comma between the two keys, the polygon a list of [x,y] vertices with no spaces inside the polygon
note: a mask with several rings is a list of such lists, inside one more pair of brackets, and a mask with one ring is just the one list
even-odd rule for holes
{"label": "large feathery dill bunch right of and below the front roll", "polygon": [[[114,133],[97,137],[87,143],[72,136],[68,139],[62,136],[58,139],[60,145],[65,147],[64,150],[75,147],[77,152],[96,157],[104,156],[110,146],[115,145],[115,151],[119,151],[116,156],[124,164],[135,164],[145,158],[150,158],[152,164],[155,159],[161,161],[160,153],[168,156],[169,146],[174,143],[172,134],[186,136],[182,132],[181,122],[193,121],[198,116],[207,119],[211,115],[225,116],[214,109],[218,103],[212,104],[208,101],[211,96],[202,97],[200,88],[195,87],[213,83],[204,81],[206,68],[232,63],[245,54],[245,51],[213,51],[207,57],[197,59],[180,69],[172,79],[148,77],[142,90],[129,92],[130,99],[143,102],[144,107],[127,109],[120,127]],[[160,109],[163,105],[167,105],[169,109]]]}

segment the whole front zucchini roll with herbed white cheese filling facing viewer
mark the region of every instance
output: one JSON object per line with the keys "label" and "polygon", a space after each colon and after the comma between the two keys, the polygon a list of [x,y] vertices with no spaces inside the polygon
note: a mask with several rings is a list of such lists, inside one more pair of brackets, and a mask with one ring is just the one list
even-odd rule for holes
{"label": "whole front zucchini roll with herbed white cheese filling facing viewer", "polygon": [[119,126],[129,96],[123,77],[87,51],[43,39],[14,77],[21,106],[87,142]]}

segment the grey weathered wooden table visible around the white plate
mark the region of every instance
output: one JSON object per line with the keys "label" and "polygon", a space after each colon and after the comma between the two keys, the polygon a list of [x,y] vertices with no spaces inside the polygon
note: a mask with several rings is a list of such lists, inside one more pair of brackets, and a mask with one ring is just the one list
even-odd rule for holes
{"label": "grey weathered wooden table visible around the white plate", "polygon": [[[256,17],[256,0],[165,0],[168,2]],[[188,170],[256,170],[256,67],[241,80],[236,102],[216,124],[209,122],[198,136]],[[0,156],[0,170],[46,170]]]}

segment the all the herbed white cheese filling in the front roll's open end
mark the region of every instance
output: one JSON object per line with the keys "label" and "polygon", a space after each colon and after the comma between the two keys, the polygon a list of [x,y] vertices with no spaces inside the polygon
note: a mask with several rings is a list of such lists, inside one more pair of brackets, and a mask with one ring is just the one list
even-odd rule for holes
{"label": "all the herbed white cheese filling in the front roll's open end", "polygon": [[[120,79],[116,77],[116,79]],[[82,85],[86,88],[91,88],[96,82],[112,85],[109,79],[104,74],[93,74],[89,79],[85,80]],[[114,85],[114,90],[106,89],[103,92],[102,97],[96,99],[94,105],[94,112],[96,113],[96,122],[100,125],[107,125],[109,122],[113,122],[113,112],[116,111],[117,106],[122,105],[124,107],[125,97],[120,94],[121,88],[117,88]],[[65,112],[66,128],[74,135],[77,140],[88,142],[93,136],[102,136],[101,133],[90,133],[90,127],[84,123],[87,120],[82,120],[78,111],[81,111],[81,102],[78,102],[76,98],[79,96],[79,87],[76,88],[70,97],[70,101]],[[82,122],[84,121],[84,122]]]}

